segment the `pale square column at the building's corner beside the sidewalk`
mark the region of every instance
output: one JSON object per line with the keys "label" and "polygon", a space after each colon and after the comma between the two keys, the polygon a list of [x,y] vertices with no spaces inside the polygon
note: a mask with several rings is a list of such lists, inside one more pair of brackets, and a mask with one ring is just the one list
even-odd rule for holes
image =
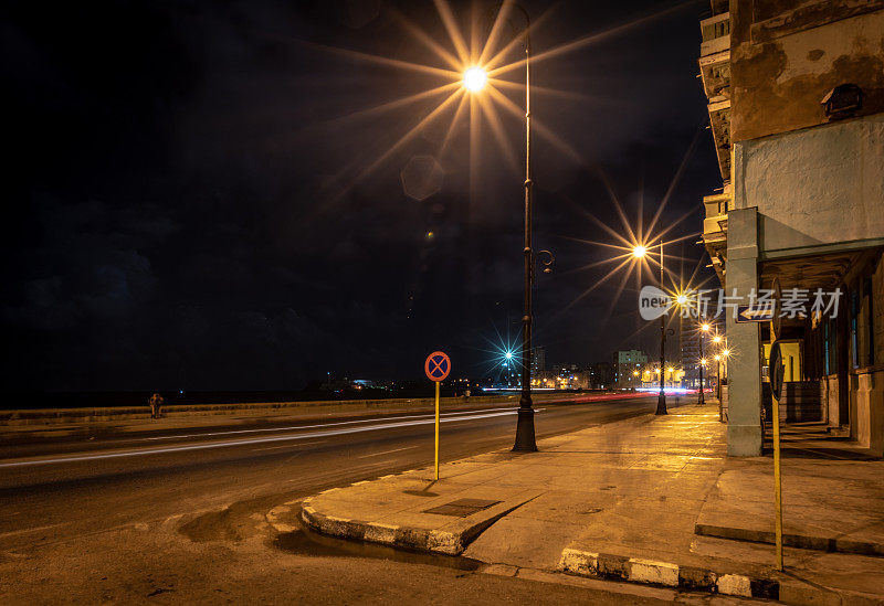
{"label": "pale square column at the building's corner beside the sidewalk", "polygon": [[[735,209],[727,215],[728,295],[744,301],[758,288],[758,211]],[[727,454],[734,457],[761,455],[761,359],[760,325],[737,323],[727,315],[727,344],[734,352],[727,362]]]}

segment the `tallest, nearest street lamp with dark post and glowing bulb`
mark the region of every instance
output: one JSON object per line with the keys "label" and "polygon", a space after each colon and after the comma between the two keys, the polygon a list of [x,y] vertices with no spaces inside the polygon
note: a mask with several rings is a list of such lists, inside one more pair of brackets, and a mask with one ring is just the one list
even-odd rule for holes
{"label": "tallest, nearest street lamp with dark post and glowing bulb", "polygon": [[[522,249],[525,262],[525,301],[522,316],[522,397],[518,402],[516,423],[516,453],[534,453],[537,442],[534,432],[534,408],[532,407],[532,281],[534,273],[534,252],[532,251],[532,20],[524,7],[514,8],[525,17],[525,245]],[[464,87],[475,94],[485,87],[487,73],[473,66],[463,74]]]}

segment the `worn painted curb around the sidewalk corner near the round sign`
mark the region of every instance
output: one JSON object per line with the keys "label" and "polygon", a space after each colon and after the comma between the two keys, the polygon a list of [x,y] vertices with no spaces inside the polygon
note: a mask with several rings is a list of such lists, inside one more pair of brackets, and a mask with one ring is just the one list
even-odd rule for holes
{"label": "worn painted curb around the sidewalk corner near the round sign", "polygon": [[[328,495],[337,490],[340,489],[333,488],[319,495]],[[312,504],[313,498],[302,501],[301,519],[311,529],[330,536],[368,541],[413,551],[460,555],[485,529],[532,499],[515,503],[513,501],[502,502],[467,518],[454,520],[442,529],[392,525],[327,515],[316,511]]]}

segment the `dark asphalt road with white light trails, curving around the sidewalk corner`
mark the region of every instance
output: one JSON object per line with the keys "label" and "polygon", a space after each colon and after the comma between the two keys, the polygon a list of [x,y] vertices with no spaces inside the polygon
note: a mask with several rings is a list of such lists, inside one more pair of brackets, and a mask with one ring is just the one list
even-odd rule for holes
{"label": "dark asphalt road with white light trails, curving around the sidewalk corner", "polygon": [[[655,405],[654,396],[539,404],[537,435],[649,414]],[[445,413],[442,459],[508,447],[515,423],[514,407]],[[490,575],[467,580],[433,566],[379,567],[364,559],[273,550],[263,513],[274,506],[432,460],[432,415],[414,413],[0,440],[0,602],[50,603],[61,593],[73,602],[128,603],[168,593],[169,599],[215,603],[223,602],[221,592],[235,600],[364,603],[396,592],[425,599],[428,583],[480,597],[499,592],[503,602],[537,595],[524,583],[499,585]],[[293,566],[306,576],[280,593],[274,580]],[[240,577],[248,583],[235,582]],[[372,578],[385,578],[387,591],[365,594]]]}

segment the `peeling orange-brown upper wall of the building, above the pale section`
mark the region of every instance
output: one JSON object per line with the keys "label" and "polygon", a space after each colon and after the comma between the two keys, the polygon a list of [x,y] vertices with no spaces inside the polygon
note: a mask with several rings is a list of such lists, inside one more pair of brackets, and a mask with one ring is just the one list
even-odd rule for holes
{"label": "peeling orange-brown upper wall of the building, above the pale section", "polygon": [[884,111],[884,0],[732,0],[733,141],[827,121],[839,84]]}

